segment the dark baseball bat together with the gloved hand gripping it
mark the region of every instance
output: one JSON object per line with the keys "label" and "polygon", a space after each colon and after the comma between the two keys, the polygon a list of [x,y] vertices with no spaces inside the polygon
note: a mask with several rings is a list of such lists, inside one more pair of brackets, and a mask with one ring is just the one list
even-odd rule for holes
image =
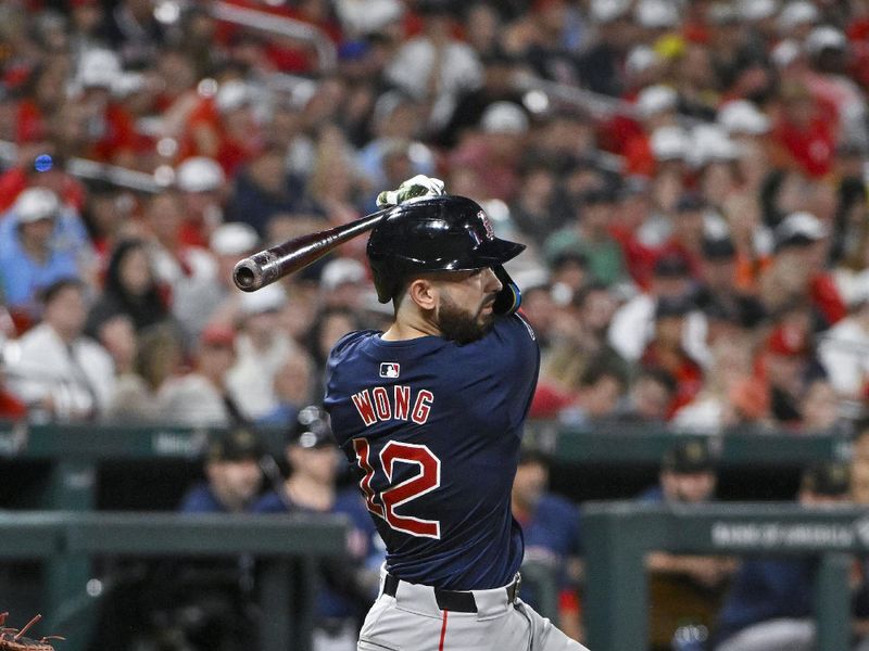
{"label": "dark baseball bat together with the gloved hand gripping it", "polygon": [[398,190],[381,192],[377,197],[379,210],[349,224],[302,235],[244,258],[232,270],[236,286],[254,292],[276,280],[295,273],[333,251],[340,244],[368,232],[395,205],[415,196],[444,194],[443,181],[418,175],[407,179]]}

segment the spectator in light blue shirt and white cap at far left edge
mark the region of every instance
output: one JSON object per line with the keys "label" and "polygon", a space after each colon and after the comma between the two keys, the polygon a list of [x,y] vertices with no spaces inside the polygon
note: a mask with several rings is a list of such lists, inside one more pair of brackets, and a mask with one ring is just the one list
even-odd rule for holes
{"label": "spectator in light blue shirt and white cap at far left edge", "polygon": [[[78,260],[72,250],[54,241],[61,216],[58,195],[47,188],[30,188],[18,195],[3,220],[0,238],[0,282],[7,303],[30,318],[37,316],[40,290],[62,278],[78,278]],[[8,237],[7,237],[8,235]]]}

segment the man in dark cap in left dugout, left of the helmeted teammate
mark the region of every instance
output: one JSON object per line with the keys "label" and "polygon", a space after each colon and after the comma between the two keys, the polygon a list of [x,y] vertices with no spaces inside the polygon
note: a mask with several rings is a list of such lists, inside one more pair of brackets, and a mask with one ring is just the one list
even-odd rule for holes
{"label": "man in dark cap in left dugout, left of the helmeted teammate", "polygon": [[231,430],[209,445],[205,482],[185,495],[181,513],[241,513],[253,506],[262,485],[260,459],[265,454],[250,429]]}

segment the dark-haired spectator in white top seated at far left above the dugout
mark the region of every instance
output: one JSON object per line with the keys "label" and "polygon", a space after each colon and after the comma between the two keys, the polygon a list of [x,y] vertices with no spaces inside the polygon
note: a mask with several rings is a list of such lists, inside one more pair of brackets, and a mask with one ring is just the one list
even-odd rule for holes
{"label": "dark-haired spectator in white top seated at far left above the dugout", "polygon": [[41,294],[42,321],[7,350],[10,386],[32,417],[88,421],[101,416],[114,388],[109,353],[84,336],[86,289],[61,279]]}

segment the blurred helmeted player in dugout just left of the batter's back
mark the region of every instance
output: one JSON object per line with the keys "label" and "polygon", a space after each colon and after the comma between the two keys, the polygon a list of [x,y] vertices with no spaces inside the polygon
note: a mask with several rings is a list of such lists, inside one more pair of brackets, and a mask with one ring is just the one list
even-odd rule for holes
{"label": "blurred helmeted player in dugout just left of the batter's back", "polygon": [[[352,523],[349,556],[318,566],[324,585],[316,597],[313,651],[356,649],[358,625],[377,597],[382,546],[355,488],[338,493],[339,457],[328,414],[302,408],[287,442],[290,476],[253,506],[254,513],[343,513]],[[369,562],[369,557],[376,560]]]}

